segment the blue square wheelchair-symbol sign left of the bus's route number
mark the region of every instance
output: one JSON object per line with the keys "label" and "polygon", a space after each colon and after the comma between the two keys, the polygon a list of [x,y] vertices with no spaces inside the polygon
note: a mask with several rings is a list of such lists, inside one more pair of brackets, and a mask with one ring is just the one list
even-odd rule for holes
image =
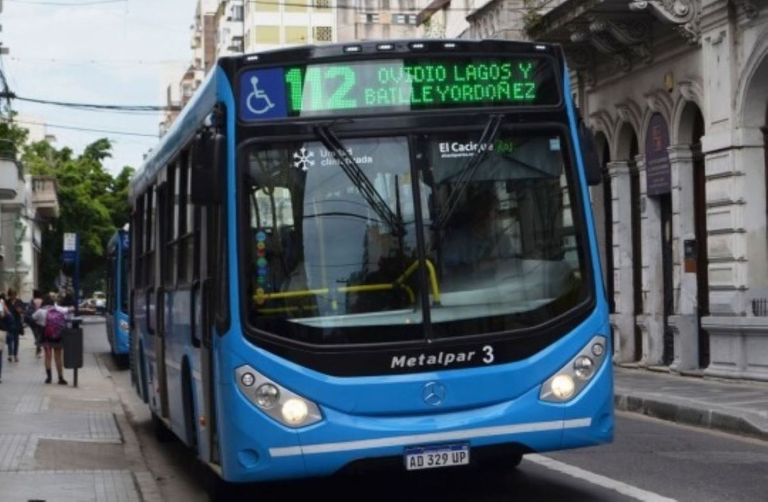
{"label": "blue square wheelchair-symbol sign left of the bus's route number", "polygon": [[244,121],[285,118],[283,68],[246,71],[240,76],[240,118]]}

